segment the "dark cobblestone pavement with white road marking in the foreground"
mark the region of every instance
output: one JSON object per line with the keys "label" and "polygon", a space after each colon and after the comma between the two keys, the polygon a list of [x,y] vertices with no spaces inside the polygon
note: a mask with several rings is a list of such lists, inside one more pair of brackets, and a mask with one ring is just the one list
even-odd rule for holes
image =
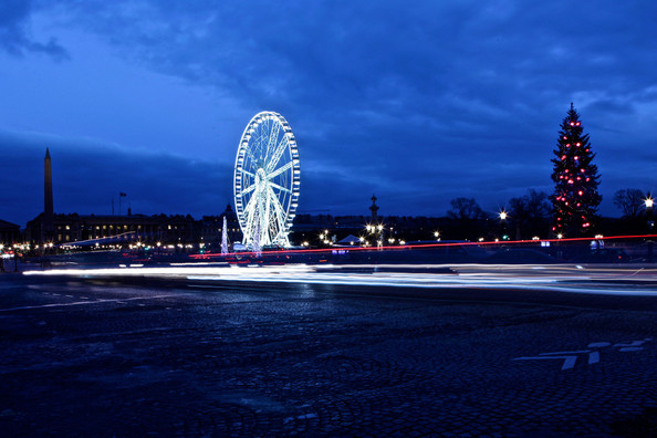
{"label": "dark cobblestone pavement with white road marking in the foreground", "polygon": [[3,274],[0,435],[657,434],[657,312],[585,300]]}

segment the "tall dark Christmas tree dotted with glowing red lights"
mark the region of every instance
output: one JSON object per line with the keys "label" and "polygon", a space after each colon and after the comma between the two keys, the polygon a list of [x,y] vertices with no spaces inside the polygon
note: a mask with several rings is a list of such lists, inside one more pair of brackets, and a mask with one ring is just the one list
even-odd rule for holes
{"label": "tall dark Christmas tree dotted with glowing red lights", "polygon": [[552,231],[561,237],[577,237],[593,233],[597,206],[602,196],[597,192],[599,175],[591,161],[588,134],[582,135],[580,115],[573,108],[561,124],[556,158],[552,159],[554,195],[550,197],[554,212]]}

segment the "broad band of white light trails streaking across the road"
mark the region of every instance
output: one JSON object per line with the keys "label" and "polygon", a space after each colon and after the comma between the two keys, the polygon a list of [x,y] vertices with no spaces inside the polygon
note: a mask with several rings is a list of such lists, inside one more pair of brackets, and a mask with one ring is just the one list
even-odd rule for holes
{"label": "broad band of white light trails streaking across the road", "polygon": [[[414,272],[404,272],[413,269]],[[358,270],[359,272],[353,272]],[[427,272],[421,272],[427,270]],[[441,270],[430,272],[429,270]],[[365,271],[365,272],[363,272]],[[513,289],[657,296],[657,269],[536,264],[204,265],[27,271],[25,275],[158,278],[194,282],[306,283],[421,289]]]}

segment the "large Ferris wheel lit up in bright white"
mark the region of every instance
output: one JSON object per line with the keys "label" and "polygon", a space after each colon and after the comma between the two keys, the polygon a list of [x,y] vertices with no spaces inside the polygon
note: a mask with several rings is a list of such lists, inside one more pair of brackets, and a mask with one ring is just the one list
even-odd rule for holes
{"label": "large Ferris wheel lit up in bright white", "polygon": [[299,187],[299,152],[290,124],[278,113],[255,114],[234,160],[234,206],[243,244],[290,247]]}

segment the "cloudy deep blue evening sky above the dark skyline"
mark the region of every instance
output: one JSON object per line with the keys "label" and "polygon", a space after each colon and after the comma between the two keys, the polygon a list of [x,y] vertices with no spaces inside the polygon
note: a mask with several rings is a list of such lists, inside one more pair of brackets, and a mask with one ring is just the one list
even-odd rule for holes
{"label": "cloudy deep blue evening sky above the dark skyline", "polygon": [[2,0],[0,218],[43,210],[45,147],[55,212],[124,191],[220,213],[265,109],[295,133],[300,212],[492,212],[552,191],[571,102],[618,216],[616,190],[657,186],[656,65],[654,0]]}

